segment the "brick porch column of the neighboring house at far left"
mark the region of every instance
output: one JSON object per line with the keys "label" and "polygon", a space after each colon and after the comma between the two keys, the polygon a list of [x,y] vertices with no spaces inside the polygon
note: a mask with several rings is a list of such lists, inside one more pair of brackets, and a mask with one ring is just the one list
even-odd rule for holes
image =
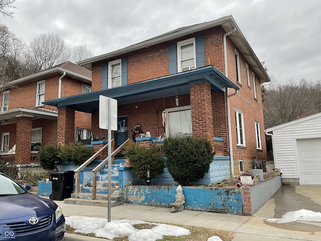
{"label": "brick porch column of the neighboring house at far left", "polygon": [[16,125],[16,164],[31,162],[31,134],[33,115],[17,115]]}

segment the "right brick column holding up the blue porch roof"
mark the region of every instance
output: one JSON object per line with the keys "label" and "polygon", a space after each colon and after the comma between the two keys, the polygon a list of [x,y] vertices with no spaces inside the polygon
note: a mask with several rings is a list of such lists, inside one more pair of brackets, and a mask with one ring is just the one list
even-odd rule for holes
{"label": "right brick column holding up the blue porch roof", "polygon": [[206,82],[190,85],[193,137],[206,138],[213,146],[211,86]]}

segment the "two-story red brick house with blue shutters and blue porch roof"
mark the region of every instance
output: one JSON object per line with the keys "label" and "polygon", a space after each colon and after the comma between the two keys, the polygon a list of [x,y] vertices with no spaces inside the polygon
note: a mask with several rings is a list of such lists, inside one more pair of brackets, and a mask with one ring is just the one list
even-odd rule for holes
{"label": "two-story red brick house with blue shutters and blue porch roof", "polygon": [[[104,95],[118,102],[119,128],[113,133],[118,145],[140,125],[151,137],[207,138],[214,161],[228,160],[230,177],[253,169],[254,159],[266,160],[260,84],[270,78],[232,16],[78,64],[92,70],[93,92],[46,101],[58,107],[58,125],[72,125],[64,116],[84,111],[92,114],[93,135],[106,136],[98,125]],[[73,129],[59,128],[59,141],[73,141],[68,134]]]}

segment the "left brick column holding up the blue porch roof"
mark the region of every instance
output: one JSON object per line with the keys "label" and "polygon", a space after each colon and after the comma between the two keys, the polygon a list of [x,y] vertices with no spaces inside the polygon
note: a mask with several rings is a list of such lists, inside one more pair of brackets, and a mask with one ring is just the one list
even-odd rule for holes
{"label": "left brick column holding up the blue porch roof", "polygon": [[75,141],[75,110],[71,108],[58,109],[57,122],[58,144],[68,144]]}

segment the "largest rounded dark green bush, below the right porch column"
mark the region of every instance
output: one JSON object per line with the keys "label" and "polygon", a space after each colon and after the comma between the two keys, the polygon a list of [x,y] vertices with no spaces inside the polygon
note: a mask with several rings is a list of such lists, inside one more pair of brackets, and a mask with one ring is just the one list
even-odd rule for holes
{"label": "largest rounded dark green bush, below the right porch column", "polygon": [[163,151],[170,174],[184,186],[203,178],[215,155],[208,140],[190,137],[165,139]]}

